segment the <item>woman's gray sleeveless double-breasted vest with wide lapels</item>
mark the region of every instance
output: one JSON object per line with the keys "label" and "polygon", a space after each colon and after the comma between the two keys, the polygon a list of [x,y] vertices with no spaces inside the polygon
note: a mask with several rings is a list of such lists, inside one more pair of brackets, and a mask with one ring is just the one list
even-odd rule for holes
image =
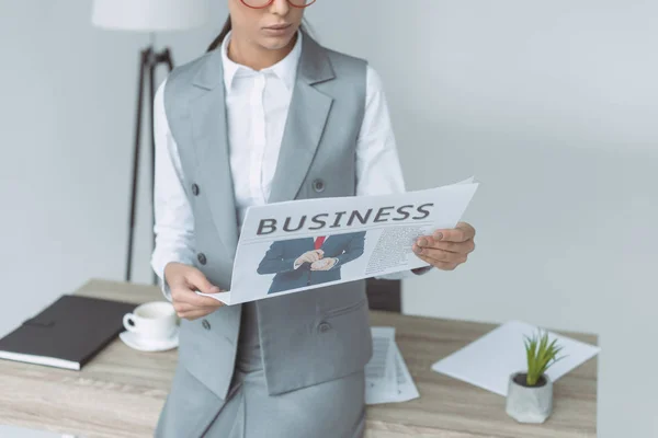
{"label": "woman's gray sleeveless double-breasted vest with wide lapels", "polygon": [[[364,60],[304,34],[270,203],[354,195],[365,81]],[[238,224],[219,50],[171,72],[164,107],[194,214],[195,266],[229,289]],[[371,358],[364,281],[268,298],[256,308],[270,394],[347,376]],[[232,377],[240,318],[238,304],[181,321],[180,365],[222,399]]]}

